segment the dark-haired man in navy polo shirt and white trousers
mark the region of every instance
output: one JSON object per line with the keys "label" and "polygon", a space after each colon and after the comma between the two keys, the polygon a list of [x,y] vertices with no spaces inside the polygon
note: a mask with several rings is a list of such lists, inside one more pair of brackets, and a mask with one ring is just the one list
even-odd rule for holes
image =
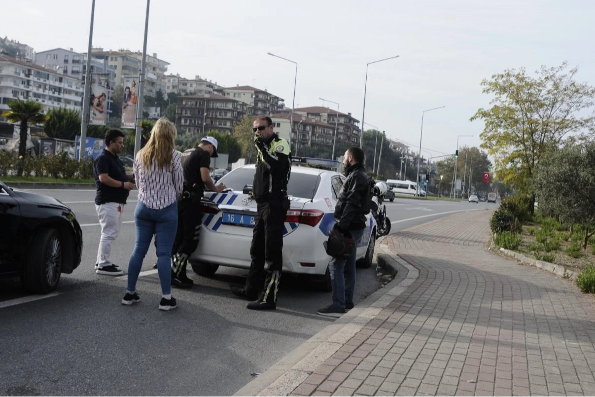
{"label": "dark-haired man in navy polo shirt and white trousers", "polygon": [[95,210],[101,225],[95,273],[119,276],[124,272],[111,261],[112,242],[120,234],[122,213],[134,184],[134,174],[126,174],[118,153],[124,148],[124,133],[117,129],[105,133],[105,148],[93,162],[95,177]]}

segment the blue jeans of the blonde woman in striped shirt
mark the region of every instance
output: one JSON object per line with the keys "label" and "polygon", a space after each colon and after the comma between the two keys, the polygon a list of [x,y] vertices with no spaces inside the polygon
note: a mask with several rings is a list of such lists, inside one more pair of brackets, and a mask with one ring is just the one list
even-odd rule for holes
{"label": "blue jeans of the blonde woman in striped shirt", "polygon": [[161,281],[161,292],[167,295],[171,293],[171,247],[174,245],[178,227],[178,204],[174,202],[162,210],[152,210],[139,201],[134,210],[134,224],[136,242],[128,262],[128,290],[136,290],[140,268],[155,235],[157,272]]}

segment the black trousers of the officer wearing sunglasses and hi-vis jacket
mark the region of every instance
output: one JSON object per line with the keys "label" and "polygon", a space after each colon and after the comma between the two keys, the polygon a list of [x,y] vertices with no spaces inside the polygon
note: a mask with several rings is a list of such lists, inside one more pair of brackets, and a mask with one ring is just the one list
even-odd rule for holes
{"label": "black trousers of the officer wearing sunglasses and hi-vis jacket", "polygon": [[[258,203],[250,245],[250,270],[244,289],[259,293],[259,301],[277,302],[283,268],[283,228],[289,199]],[[266,266],[265,266],[266,265]]]}

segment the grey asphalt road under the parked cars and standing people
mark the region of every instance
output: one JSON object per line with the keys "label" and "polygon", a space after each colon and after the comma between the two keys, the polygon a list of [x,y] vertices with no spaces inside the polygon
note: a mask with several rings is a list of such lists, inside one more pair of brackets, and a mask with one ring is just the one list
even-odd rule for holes
{"label": "grey asphalt road under the parked cars and standing people", "polygon": [[[126,277],[98,276],[93,270],[99,225],[89,190],[37,190],[70,205],[82,224],[83,261],[63,275],[56,293],[27,295],[16,279],[0,279],[0,395],[226,396],[246,385],[306,339],[331,323],[316,314],[330,293],[309,289],[308,281],[282,279],[273,312],[246,310],[230,284],[247,271],[221,268],[197,276],[192,290],[175,290],[178,308],[157,310],[156,274],[142,276],[139,305],[120,299]],[[392,232],[459,211],[494,204],[417,201],[385,202]],[[124,209],[121,235],[112,258],[124,269],[134,246],[136,192]],[[156,258],[149,250],[143,271]],[[374,266],[358,270],[356,304],[378,289]]]}

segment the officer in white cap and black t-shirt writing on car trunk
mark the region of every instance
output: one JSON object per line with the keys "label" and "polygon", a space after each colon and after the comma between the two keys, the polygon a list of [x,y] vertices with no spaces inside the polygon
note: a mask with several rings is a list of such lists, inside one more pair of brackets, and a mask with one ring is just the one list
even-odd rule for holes
{"label": "officer in white cap and black t-shirt writing on car trunk", "polygon": [[186,275],[188,257],[196,250],[201,236],[201,198],[205,187],[213,192],[223,192],[226,186],[215,186],[209,174],[211,157],[217,157],[217,139],[205,136],[196,148],[182,154],[184,192],[178,201],[178,230],[171,250],[171,285],[190,288],[192,279]]}

